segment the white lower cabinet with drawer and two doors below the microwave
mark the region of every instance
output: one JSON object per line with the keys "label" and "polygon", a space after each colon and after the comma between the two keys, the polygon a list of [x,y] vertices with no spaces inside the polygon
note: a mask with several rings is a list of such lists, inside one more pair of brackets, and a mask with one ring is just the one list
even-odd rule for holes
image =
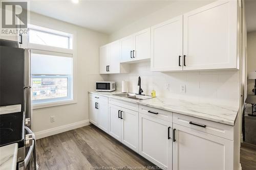
{"label": "white lower cabinet with drawer and two doors below the microwave", "polygon": [[109,99],[100,95],[89,95],[89,120],[103,131],[109,131]]}

